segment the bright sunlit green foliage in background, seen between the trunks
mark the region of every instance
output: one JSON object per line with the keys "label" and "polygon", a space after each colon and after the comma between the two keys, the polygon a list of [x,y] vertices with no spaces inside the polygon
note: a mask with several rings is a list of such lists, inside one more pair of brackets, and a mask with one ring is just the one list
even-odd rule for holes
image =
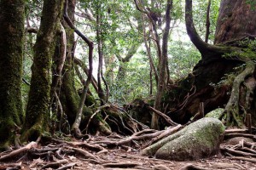
{"label": "bright sunlit green foliage in background, seen between the trunks", "polygon": [[[38,27],[40,20],[40,13],[42,9],[42,0],[27,0],[26,14],[29,16],[30,23],[34,27]],[[218,17],[219,0],[212,0],[211,10],[211,36],[213,41],[213,33],[215,31],[215,24]],[[145,1],[145,8],[151,8],[155,13],[160,14],[163,18],[166,10],[166,1],[160,0],[157,2]],[[202,0],[195,1],[194,4],[194,20],[199,32],[204,36],[205,19],[207,11],[207,2]],[[117,103],[125,103],[136,99],[138,97],[146,97],[149,94],[149,64],[146,49],[143,45],[143,20],[142,14],[137,11],[133,1],[129,0],[97,0],[85,1],[81,0],[77,4],[76,22],[75,25],[84,35],[90,37],[95,42],[94,50],[94,76],[96,77],[98,54],[97,54],[97,40],[102,39],[103,57],[105,63],[105,78],[110,89],[110,101]],[[84,14],[90,14],[89,19]],[[179,79],[186,77],[192,71],[193,66],[201,59],[201,55],[196,48],[189,42],[186,37],[184,27],[184,3],[179,0],[173,1],[172,10],[172,35],[169,42],[168,63],[170,76],[172,79]],[[96,22],[96,16],[99,16],[99,22]],[[202,20],[203,19],[203,20]],[[144,21],[148,26],[148,20]],[[165,20],[162,20],[165,22]],[[182,28],[182,29],[181,29]],[[148,27],[146,28],[148,31]],[[96,31],[100,31],[99,37],[96,36]],[[162,35],[160,34],[160,38]],[[186,37],[185,41],[183,37]],[[30,67],[32,65],[32,46],[35,42],[35,37],[31,34],[26,35],[26,54],[24,62],[24,78],[29,82],[31,77]],[[151,41],[151,54],[154,59],[154,65],[158,64],[157,52]],[[129,50],[137,46],[137,53],[128,63],[119,62],[117,55],[123,59],[128,54]],[[76,49],[76,57],[80,58],[86,65],[88,47],[79,38],[79,45]],[[114,58],[114,59],[113,59]],[[124,79],[118,79],[119,65],[125,68]],[[109,72],[110,71],[110,72]],[[86,75],[81,71],[83,77]],[[156,84],[154,82],[154,90]],[[76,78],[76,88],[81,87],[79,78]],[[102,85],[104,88],[105,86]],[[23,99],[26,104],[27,92],[29,86],[23,84]],[[92,89],[92,88],[90,88]],[[93,91],[93,90],[91,90]],[[96,93],[96,92],[95,92]]]}

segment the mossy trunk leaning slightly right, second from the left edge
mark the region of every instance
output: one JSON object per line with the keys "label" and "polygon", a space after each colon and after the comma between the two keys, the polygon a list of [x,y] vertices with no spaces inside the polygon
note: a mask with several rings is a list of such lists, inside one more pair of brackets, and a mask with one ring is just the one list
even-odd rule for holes
{"label": "mossy trunk leaning slightly right, second from the left edge", "polygon": [[63,0],[44,0],[41,24],[34,46],[32,80],[22,139],[37,139],[49,127],[51,61],[60,24]]}

